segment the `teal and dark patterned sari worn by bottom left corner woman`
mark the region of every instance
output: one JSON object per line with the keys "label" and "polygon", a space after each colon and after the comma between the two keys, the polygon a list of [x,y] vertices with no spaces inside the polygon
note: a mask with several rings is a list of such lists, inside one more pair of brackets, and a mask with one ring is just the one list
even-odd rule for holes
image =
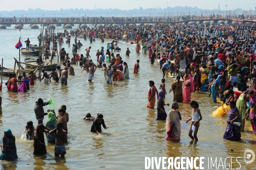
{"label": "teal and dark patterned sari worn by bottom left corner woman", "polygon": [[[8,138],[8,137],[12,137],[13,136],[12,135],[12,131],[10,129],[6,129],[4,132],[6,133],[5,135],[3,135],[4,139],[6,140],[6,145],[12,145],[12,139]],[[8,136],[6,136],[6,135],[8,135]],[[3,141],[2,141],[2,138],[1,138],[1,142],[0,143],[2,143],[2,142]],[[14,145],[13,148],[10,148],[10,147],[8,147],[8,148],[9,148],[11,153],[2,153],[0,155],[0,159],[1,160],[12,160],[12,159],[18,158],[16,144]]]}

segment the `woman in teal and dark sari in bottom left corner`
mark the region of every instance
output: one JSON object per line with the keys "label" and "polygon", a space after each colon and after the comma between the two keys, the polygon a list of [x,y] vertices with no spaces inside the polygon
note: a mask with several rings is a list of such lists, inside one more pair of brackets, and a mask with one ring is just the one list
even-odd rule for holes
{"label": "woman in teal and dark sari in bottom left corner", "polygon": [[1,160],[12,160],[18,158],[15,136],[12,135],[12,131],[9,129],[4,131],[4,135],[1,138],[1,149]]}

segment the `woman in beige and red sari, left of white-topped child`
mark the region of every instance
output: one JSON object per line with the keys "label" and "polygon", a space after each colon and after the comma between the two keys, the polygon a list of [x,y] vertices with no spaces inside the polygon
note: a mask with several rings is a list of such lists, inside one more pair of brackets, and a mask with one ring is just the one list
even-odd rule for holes
{"label": "woman in beige and red sari, left of white-topped child", "polygon": [[166,140],[179,140],[181,134],[180,121],[181,116],[179,113],[179,104],[173,103],[170,112],[168,112],[166,118]]}

